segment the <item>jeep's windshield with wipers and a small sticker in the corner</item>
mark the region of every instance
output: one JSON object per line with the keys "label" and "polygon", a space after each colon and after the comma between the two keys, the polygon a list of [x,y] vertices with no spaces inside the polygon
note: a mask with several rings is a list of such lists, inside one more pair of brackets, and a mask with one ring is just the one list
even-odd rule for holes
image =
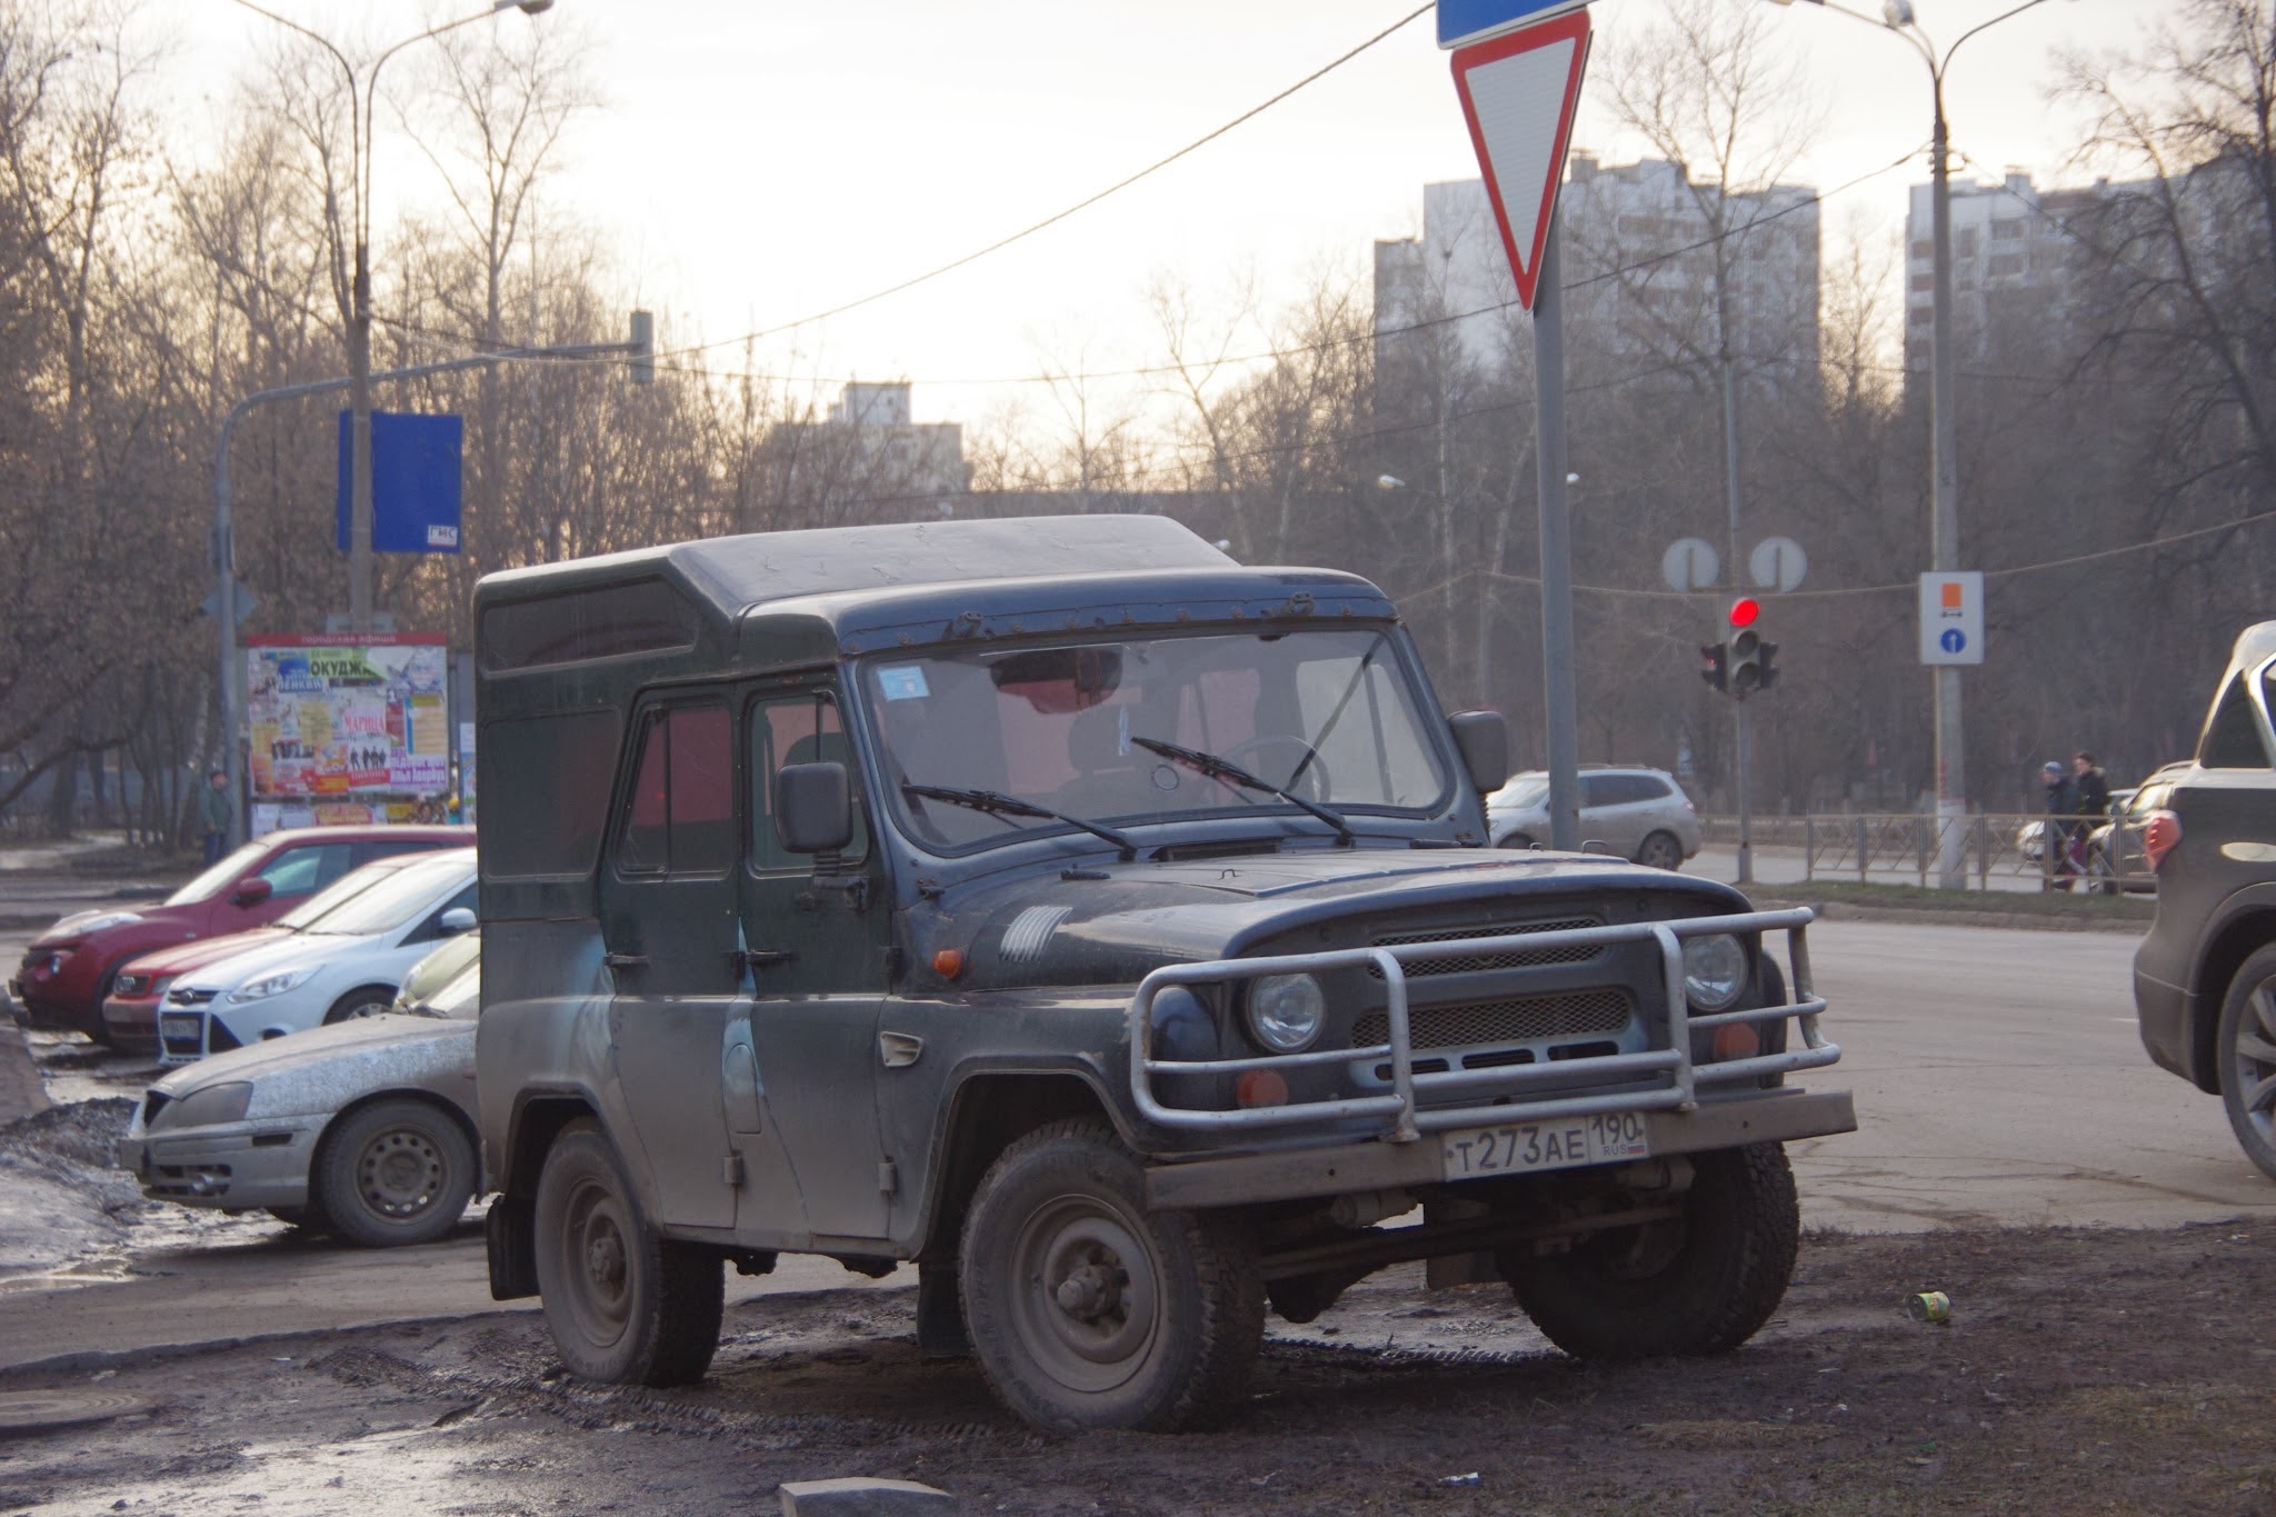
{"label": "jeep's windshield with wipers and a small sticker in the corner", "polygon": [[876,657],[860,696],[883,744],[888,803],[913,837],[947,853],[1067,823],[901,785],[1118,826],[1247,810],[1316,826],[1293,803],[1143,739],[1213,755],[1338,812],[1418,812],[1448,791],[1407,669],[1391,639],[1366,628]]}

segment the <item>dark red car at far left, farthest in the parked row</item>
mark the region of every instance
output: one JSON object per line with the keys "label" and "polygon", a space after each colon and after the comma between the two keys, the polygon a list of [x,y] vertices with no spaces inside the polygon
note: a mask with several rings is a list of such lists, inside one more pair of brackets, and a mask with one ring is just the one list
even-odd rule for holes
{"label": "dark red car at far left, farthest in the parked row", "polygon": [[102,1001],[125,962],[198,937],[244,932],[282,917],[360,864],[391,853],[464,848],[473,828],[296,828],[259,837],[159,905],[73,912],[23,955],[9,994],[34,1028],[107,1042]]}

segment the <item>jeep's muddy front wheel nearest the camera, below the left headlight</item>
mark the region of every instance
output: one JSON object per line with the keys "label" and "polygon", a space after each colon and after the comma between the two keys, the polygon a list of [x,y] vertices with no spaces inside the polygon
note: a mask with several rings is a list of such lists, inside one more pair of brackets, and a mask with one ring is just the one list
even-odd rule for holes
{"label": "jeep's muddy front wheel nearest the camera, below the left headlight", "polygon": [[1063,1433],[1220,1421],[1263,1342],[1256,1240],[1227,1212],[1149,1212],[1099,1121],[1008,1146],[965,1215],[965,1328],[1013,1415]]}

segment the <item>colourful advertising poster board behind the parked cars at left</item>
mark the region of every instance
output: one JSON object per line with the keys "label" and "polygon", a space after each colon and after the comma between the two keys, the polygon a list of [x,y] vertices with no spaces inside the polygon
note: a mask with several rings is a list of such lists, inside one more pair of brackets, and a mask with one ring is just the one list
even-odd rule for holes
{"label": "colourful advertising poster board behind the parked cars at left", "polygon": [[410,821],[451,789],[448,664],[442,635],[246,639],[255,803],[284,826]]}

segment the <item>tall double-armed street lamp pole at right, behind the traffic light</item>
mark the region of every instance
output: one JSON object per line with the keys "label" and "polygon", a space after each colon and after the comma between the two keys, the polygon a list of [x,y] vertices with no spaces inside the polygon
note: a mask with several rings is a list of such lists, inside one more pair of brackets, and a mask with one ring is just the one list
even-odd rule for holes
{"label": "tall double-armed street lamp pole at right, behind the traffic light", "polygon": [[[2001,11],[1991,20],[1978,23],[1960,34],[1951,48],[1937,52],[1928,32],[1912,14],[1912,0],[1882,0],[1880,20],[1864,11],[1853,11],[1830,0],[1805,0],[1819,9],[1862,20],[1903,36],[1921,61],[1928,64],[1928,84],[1935,98],[1935,127],[1930,134],[1930,225],[1935,239],[1935,312],[1930,328],[1928,371],[1928,459],[1935,491],[1935,516],[1930,525],[1930,569],[1951,573],[1960,569],[1960,448],[1955,432],[1957,387],[1953,380],[1953,175],[1951,132],[1944,123],[1944,73],[1953,55],[1978,32],[1989,32],[2010,16],[2046,5],[2046,0],[2023,0]],[[1793,5],[1793,0],[1771,0],[1771,5]],[[1960,819],[1966,814],[1966,748],[1960,737],[1960,669],[1939,664],[1937,680],[1937,878],[1944,889],[1966,885],[1966,835]]]}

